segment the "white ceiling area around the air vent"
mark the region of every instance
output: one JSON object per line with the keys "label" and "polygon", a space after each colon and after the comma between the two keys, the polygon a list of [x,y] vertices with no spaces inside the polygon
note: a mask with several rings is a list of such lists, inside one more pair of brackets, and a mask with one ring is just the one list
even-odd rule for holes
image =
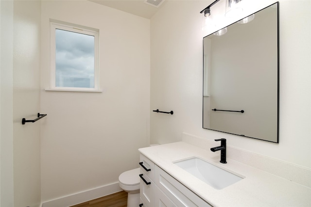
{"label": "white ceiling area around the air vent", "polygon": [[151,19],[152,16],[163,6],[162,4],[156,8],[150,4],[144,3],[145,0],[89,0],[95,3],[102,4],[114,9],[121,10],[136,16],[141,16],[147,19]]}

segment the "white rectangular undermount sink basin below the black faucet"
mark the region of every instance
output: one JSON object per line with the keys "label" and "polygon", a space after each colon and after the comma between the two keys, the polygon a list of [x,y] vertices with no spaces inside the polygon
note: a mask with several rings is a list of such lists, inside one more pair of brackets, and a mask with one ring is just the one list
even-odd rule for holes
{"label": "white rectangular undermount sink basin below the black faucet", "polygon": [[190,158],[177,161],[174,164],[217,190],[221,190],[243,179],[200,158]]}

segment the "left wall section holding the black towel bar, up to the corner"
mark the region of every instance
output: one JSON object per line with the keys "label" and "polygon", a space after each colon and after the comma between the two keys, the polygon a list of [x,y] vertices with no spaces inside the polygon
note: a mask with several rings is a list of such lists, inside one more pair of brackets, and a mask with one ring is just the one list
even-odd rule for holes
{"label": "left wall section holding the black towel bar, up to the corner", "polygon": [[14,206],[40,205],[40,1],[14,1]]}

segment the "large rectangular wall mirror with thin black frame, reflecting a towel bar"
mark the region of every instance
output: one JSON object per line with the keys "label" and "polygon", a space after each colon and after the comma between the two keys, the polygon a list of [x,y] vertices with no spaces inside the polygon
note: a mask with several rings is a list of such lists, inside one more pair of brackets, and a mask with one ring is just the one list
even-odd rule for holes
{"label": "large rectangular wall mirror with thin black frame, reflecting a towel bar", "polygon": [[204,37],[203,128],[278,143],[277,8]]}

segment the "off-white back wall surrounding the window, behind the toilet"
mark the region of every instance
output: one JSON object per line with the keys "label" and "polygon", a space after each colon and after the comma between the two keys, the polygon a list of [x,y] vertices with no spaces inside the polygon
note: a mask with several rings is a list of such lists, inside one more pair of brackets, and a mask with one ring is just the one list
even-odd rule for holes
{"label": "off-white back wall surrounding the window, behind the toilet", "polygon": [[[49,88],[49,19],[100,30],[102,93]],[[42,201],[118,182],[149,144],[150,20],[90,1],[41,3]]]}

